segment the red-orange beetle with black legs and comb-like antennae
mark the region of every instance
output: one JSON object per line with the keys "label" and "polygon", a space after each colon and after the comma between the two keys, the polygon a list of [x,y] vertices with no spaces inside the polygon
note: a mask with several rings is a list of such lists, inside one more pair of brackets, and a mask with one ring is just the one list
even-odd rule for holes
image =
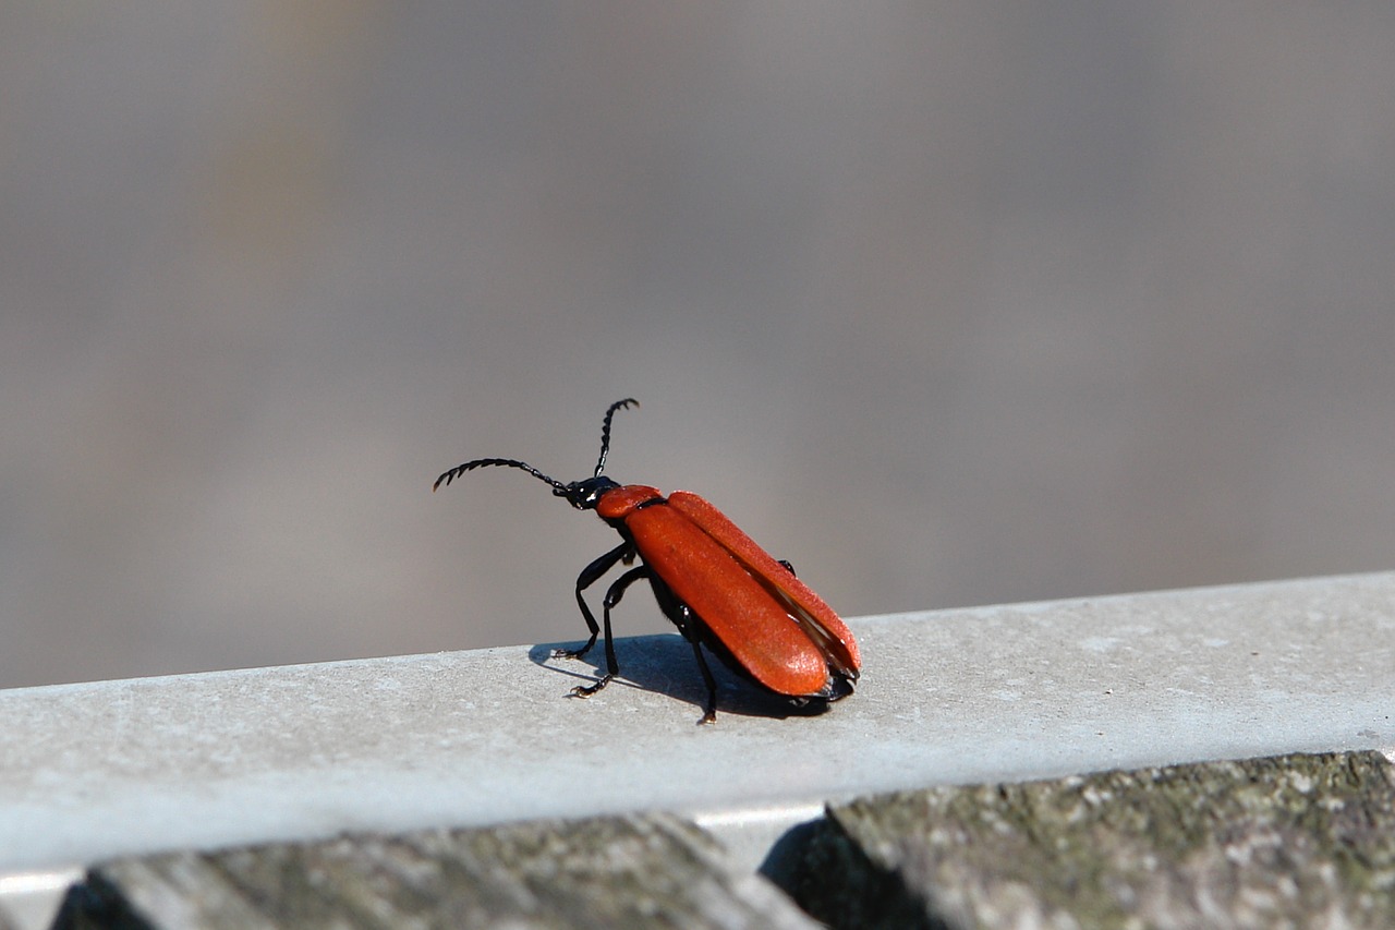
{"label": "red-orange beetle with black legs and comb-like antennae", "polygon": [[615,401],[601,425],[601,454],[590,478],[564,485],[527,462],[477,458],[437,478],[431,490],[449,485],[476,468],[516,468],[552,486],[576,510],[594,510],[619,532],[621,543],[576,577],[576,605],[590,638],[578,649],[554,649],[555,658],[579,659],[591,651],[601,626],[582,592],[617,564],[639,566],[622,573],[601,600],[605,630],[605,673],[594,683],[572,688],[590,697],[619,674],[611,609],[636,581],[646,580],[660,610],[692,644],[707,686],[699,723],[717,719],[717,683],[703,658],[711,651],[737,674],[797,707],[837,701],[852,694],[862,659],[847,624],[819,595],[799,581],[788,561],[777,561],[731,519],[691,492],[664,497],[647,485],[619,485],[605,476],[611,419],[617,411],[639,406],[635,398]]}

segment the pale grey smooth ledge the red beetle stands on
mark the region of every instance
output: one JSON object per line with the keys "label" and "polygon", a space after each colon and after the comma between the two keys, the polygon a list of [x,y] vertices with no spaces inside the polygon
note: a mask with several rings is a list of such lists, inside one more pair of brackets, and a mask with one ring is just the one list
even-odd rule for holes
{"label": "pale grey smooth ledge the red beetle stands on", "polygon": [[565,694],[594,667],[547,647],[0,691],[0,888],[135,853],[636,810],[759,860],[830,799],[1395,747],[1395,573],[851,626],[854,697],[771,716],[728,679],[710,728],[677,637],[621,641],[626,681],[586,701]]}

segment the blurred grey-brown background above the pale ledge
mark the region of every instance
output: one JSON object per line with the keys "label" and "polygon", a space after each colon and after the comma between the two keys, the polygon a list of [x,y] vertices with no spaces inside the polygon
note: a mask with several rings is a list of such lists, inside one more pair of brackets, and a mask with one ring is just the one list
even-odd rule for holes
{"label": "blurred grey-brown background above the pale ledge", "polygon": [[0,687],[1395,564],[1388,0],[0,17]]}

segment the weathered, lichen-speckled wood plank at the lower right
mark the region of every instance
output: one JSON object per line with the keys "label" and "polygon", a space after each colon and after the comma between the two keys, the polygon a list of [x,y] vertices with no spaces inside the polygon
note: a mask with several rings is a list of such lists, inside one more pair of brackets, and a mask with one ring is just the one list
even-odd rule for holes
{"label": "weathered, lichen-speckled wood plank at the lower right", "polygon": [[1380,753],[940,788],[830,809],[795,898],[836,927],[1392,927]]}

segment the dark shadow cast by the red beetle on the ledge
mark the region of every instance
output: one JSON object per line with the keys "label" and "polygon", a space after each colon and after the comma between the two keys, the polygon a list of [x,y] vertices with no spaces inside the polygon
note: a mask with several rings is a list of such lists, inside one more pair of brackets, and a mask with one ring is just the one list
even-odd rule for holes
{"label": "dark shadow cast by the red beetle on the ledge", "polygon": [[[569,680],[569,687],[590,684],[605,669],[605,644],[597,640],[591,651],[580,659],[554,656],[559,648],[575,649],[576,642],[541,642],[529,649],[529,659],[557,672]],[[787,716],[817,716],[829,709],[829,702],[812,700],[795,705],[788,698],[764,691],[751,681],[737,676],[711,652],[703,651],[707,667],[717,680],[717,719],[723,715],[766,716],[784,719]],[[635,687],[656,694],[665,694],[677,701],[691,704],[700,716],[707,704],[707,686],[693,658],[693,648],[678,634],[667,633],[647,637],[624,637],[615,640],[615,658],[619,674],[607,684],[607,690]],[[566,694],[566,690],[561,691]]]}

